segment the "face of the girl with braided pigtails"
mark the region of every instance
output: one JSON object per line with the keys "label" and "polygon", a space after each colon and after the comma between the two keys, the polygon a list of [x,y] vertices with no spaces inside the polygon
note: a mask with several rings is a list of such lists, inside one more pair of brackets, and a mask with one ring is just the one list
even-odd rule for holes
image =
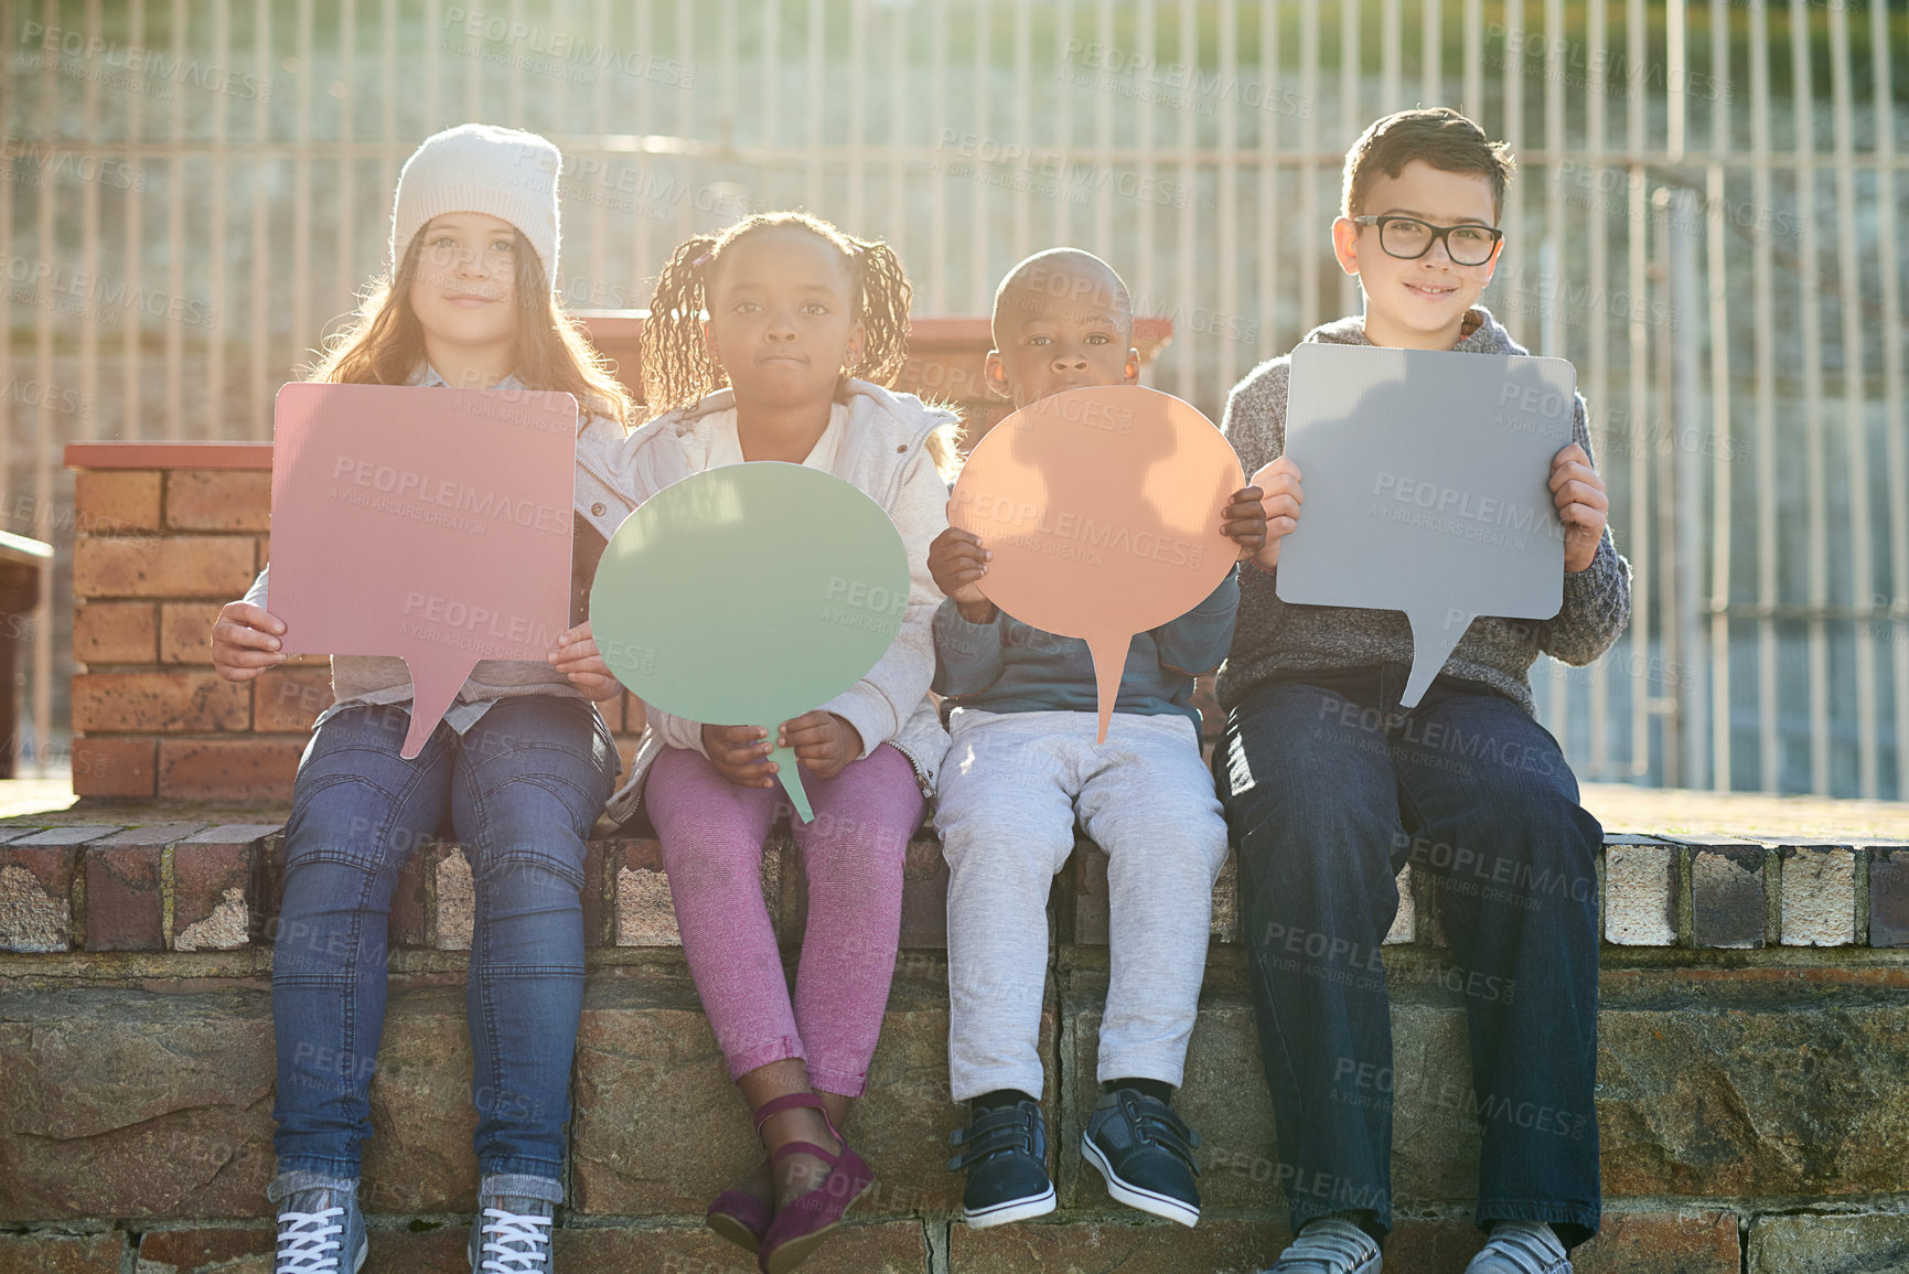
{"label": "face of the girl with braided pigtails", "polygon": [[834,397],[861,357],[850,271],[806,229],[746,235],[722,254],[703,332],[739,397],[798,405]]}

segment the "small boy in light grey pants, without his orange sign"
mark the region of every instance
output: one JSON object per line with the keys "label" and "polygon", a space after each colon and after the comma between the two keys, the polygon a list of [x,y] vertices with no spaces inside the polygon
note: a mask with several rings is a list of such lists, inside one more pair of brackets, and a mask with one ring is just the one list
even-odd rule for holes
{"label": "small boy in light grey pants, without his orange sign", "polygon": [[[987,380],[1025,407],[1080,386],[1140,380],[1126,285],[1075,248],[1016,265],[995,292]],[[1241,552],[1266,542],[1260,491],[1216,510]],[[1096,745],[1086,642],[1000,613],[983,594],[989,552],[943,531],[928,567],[934,688],[954,703],[935,829],[949,863],[949,1070],[972,1121],[949,1167],[962,1213],[993,1226],[1054,1209],[1038,1094],[1048,976],[1048,886],[1075,823],[1107,852],[1111,982],[1100,1028],[1101,1096],[1082,1154],[1109,1194],[1182,1224],[1199,1219],[1199,1136],[1168,1104],[1185,1066],[1206,966],[1226,821],[1201,764],[1193,674],[1226,655],[1237,571],[1180,619],[1132,640],[1107,741]]]}

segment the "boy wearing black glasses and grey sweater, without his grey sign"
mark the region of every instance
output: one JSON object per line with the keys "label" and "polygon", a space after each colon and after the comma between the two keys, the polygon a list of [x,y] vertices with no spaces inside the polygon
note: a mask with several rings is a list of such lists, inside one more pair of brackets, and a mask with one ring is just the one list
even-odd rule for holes
{"label": "boy wearing black glasses and grey sweater, without his grey sign", "polygon": [[[1390,115],[1346,153],[1332,250],[1365,313],[1308,340],[1525,353],[1478,296],[1491,281],[1512,159],[1455,111]],[[1630,567],[1605,527],[1579,399],[1575,443],[1552,460],[1565,529],[1554,619],[1481,617],[1418,707],[1397,611],[1287,605],[1279,544],[1300,520],[1285,451],[1285,357],[1233,388],[1224,430],[1266,497],[1266,548],[1243,571],[1220,670],[1227,730],[1216,768],[1239,844],[1239,900],[1260,1051],[1294,1242],[1269,1274],[1378,1274],[1392,1224],[1392,1098],[1434,1083],[1394,1072],[1378,949],[1407,861],[1443,894],[1462,991],[1470,1091],[1420,1093],[1441,1138],[1481,1138],[1468,1274],[1565,1274],[1598,1232],[1598,821],[1533,716],[1539,653],[1584,665],[1630,615]],[[1428,420],[1428,426],[1434,422]],[[1397,1081],[1395,1081],[1397,1075]]]}

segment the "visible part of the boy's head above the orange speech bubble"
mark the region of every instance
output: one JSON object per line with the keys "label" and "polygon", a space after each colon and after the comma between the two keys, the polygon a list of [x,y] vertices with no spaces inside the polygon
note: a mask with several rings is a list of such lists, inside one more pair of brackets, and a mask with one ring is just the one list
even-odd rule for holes
{"label": "visible part of the boy's head above the orange speech bubble", "polygon": [[1086,265],[1037,265],[1000,308],[987,386],[1016,407],[1061,390],[1138,384],[1134,319],[1117,283]]}

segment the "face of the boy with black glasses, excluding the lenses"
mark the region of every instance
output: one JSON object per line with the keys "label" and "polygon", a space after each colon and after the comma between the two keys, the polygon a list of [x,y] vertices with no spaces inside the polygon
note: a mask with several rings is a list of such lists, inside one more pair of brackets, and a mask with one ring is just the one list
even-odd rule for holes
{"label": "face of the boy with black glasses, excluding the lenses", "polygon": [[[1380,178],[1367,195],[1361,216],[1411,216],[1430,225],[1497,225],[1491,180],[1472,172],[1445,172],[1415,159],[1399,176]],[[1399,260],[1380,246],[1378,225],[1332,222],[1332,248],[1348,275],[1365,290],[1367,334],[1384,346],[1451,348],[1470,309],[1497,267],[1499,252],[1481,265],[1451,260],[1441,239],[1418,260]],[[1502,243],[1499,244],[1502,248]]]}

